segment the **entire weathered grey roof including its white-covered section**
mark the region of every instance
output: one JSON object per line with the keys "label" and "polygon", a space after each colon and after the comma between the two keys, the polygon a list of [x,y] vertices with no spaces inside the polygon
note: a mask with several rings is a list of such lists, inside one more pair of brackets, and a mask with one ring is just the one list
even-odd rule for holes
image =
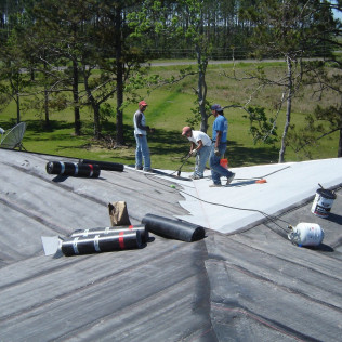
{"label": "entire weathered grey roof including its white-covered section", "polygon": [[[291,163],[267,176],[267,183],[229,188],[209,188],[208,179],[182,182],[129,167],[123,172],[102,171],[98,179],[64,177],[45,172],[49,160],[58,157],[0,149],[0,341],[339,340],[340,160],[307,162],[315,176],[305,162]],[[234,172],[236,179],[247,179],[279,167],[286,166]],[[290,180],[300,179],[303,170],[303,182],[311,181],[294,190]],[[287,181],[275,181],[281,173]],[[327,219],[311,212],[317,182],[337,188]],[[284,198],[286,188],[291,194]],[[192,221],[202,208],[207,218],[212,216],[207,203],[184,192],[206,195],[210,201],[223,200],[224,194],[228,205],[246,208],[263,201],[267,207],[260,210],[276,220],[246,219],[238,210],[242,223],[234,218],[236,229],[232,229],[226,222],[233,213],[220,206],[224,223],[209,221],[208,227],[201,221],[207,237],[196,242],[152,234],[141,249],[44,255],[41,236],[108,226],[107,205],[117,200],[127,201],[132,224],[146,213]],[[271,192],[271,199],[263,200]],[[287,222],[318,223],[325,231],[323,244],[292,245]]]}

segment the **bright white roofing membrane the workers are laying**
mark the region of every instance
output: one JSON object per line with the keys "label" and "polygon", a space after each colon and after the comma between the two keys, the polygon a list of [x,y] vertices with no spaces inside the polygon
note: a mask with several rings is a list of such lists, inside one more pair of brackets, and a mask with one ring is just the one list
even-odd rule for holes
{"label": "bright white roofing membrane the workers are laying", "polygon": [[[221,233],[233,233],[265,218],[263,213],[273,215],[315,196],[318,184],[330,188],[342,183],[342,158],[229,170],[235,173],[235,180],[228,186],[209,187],[212,184],[209,170],[201,180],[175,180],[185,199],[180,205],[189,212],[188,215],[177,218]],[[181,175],[190,174],[182,172]],[[255,183],[256,179],[264,179],[266,183]],[[225,184],[226,179],[222,177],[221,181]]]}

